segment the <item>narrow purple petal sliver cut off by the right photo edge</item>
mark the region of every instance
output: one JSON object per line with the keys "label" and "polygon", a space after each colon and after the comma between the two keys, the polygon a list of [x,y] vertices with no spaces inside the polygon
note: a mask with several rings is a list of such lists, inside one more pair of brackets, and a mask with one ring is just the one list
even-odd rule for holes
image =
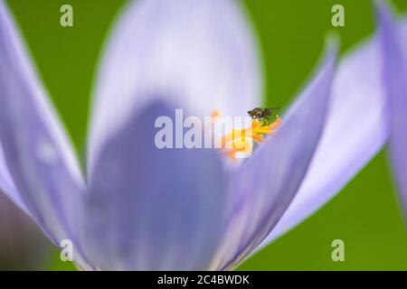
{"label": "narrow purple petal sliver cut off by the right photo edge", "polygon": [[383,52],[383,79],[390,115],[390,152],[407,217],[407,24],[397,25],[392,11],[377,6]]}

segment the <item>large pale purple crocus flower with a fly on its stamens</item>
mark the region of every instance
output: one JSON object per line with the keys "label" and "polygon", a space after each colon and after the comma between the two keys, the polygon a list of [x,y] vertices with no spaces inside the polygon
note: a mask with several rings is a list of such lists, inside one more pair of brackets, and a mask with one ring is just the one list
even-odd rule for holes
{"label": "large pale purple crocus flower with a fly on its stamens", "polygon": [[156,148],[156,117],[243,116],[262,83],[237,1],[139,0],[100,63],[85,177],[0,3],[0,186],[55,244],[71,239],[83,269],[230,269],[329,200],[387,136],[374,40],[335,79],[328,49],[278,132],[233,170],[215,150]]}

